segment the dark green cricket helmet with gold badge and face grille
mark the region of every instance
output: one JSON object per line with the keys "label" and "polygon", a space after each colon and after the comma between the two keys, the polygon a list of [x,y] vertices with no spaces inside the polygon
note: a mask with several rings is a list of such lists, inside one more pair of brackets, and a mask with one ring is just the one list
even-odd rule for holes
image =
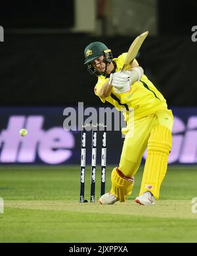
{"label": "dark green cricket helmet with gold badge and face grille", "polygon": [[92,62],[95,61],[95,59],[98,59],[100,56],[104,56],[104,62],[106,63],[106,69],[108,65],[112,62],[113,56],[112,51],[108,49],[108,47],[105,44],[102,44],[101,42],[93,42],[89,44],[84,51],[85,55],[85,65],[88,66],[88,71],[91,73],[91,75],[96,75],[97,77],[99,75],[106,75],[104,73],[99,73],[95,67],[93,67]]}

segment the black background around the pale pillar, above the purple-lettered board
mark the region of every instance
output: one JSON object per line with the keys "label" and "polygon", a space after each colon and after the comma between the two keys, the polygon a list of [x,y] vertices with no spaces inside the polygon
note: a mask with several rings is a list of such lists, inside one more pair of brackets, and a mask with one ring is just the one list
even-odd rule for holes
{"label": "black background around the pale pillar, above the purple-lettered board", "polygon": [[[127,51],[135,37],[12,30],[74,24],[74,1],[47,3],[1,3],[0,24],[5,26],[5,42],[0,45],[1,106],[99,105],[93,91],[97,78],[83,65],[83,49],[101,41],[116,57]],[[192,0],[158,1],[158,36],[148,36],[138,57],[169,106],[196,106],[197,43],[191,40],[196,10]]]}

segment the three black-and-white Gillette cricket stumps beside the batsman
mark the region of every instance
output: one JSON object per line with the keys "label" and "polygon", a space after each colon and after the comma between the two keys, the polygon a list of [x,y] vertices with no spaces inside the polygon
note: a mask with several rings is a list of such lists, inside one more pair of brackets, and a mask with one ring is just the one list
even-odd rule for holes
{"label": "three black-and-white Gillette cricket stumps beside the batsman", "polygon": [[[96,169],[97,169],[97,135],[98,131],[92,129],[92,161],[91,161],[91,203],[95,203],[95,185],[96,185]],[[87,131],[81,132],[81,189],[80,203],[85,203],[85,168],[87,154]],[[102,131],[102,152],[101,152],[101,187],[100,196],[105,193],[106,181],[106,130]]]}

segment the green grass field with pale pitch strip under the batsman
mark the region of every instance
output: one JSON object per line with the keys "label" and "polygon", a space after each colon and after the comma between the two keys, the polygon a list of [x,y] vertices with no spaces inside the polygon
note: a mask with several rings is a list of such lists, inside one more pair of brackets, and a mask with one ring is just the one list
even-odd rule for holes
{"label": "green grass field with pale pitch strip under the batsman", "polygon": [[[110,189],[107,168],[106,190]],[[0,242],[197,242],[197,168],[169,167],[161,199],[154,207],[134,202],[139,193],[142,169],[135,177],[133,195],[126,203],[99,205],[79,202],[79,167],[2,167]],[[90,168],[86,195],[90,197]],[[97,169],[97,199],[100,170]]]}

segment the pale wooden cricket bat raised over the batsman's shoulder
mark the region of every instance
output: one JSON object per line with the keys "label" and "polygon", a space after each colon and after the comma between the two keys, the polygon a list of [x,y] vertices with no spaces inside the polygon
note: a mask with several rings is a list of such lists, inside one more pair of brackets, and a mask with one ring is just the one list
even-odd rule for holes
{"label": "pale wooden cricket bat raised over the batsman's shoulder", "polygon": [[148,34],[149,34],[149,32],[146,31],[143,34],[141,34],[140,36],[138,36],[137,38],[135,38],[135,40],[131,44],[131,47],[129,48],[129,51],[127,53],[127,58],[125,59],[125,63],[123,65],[122,71],[126,70],[128,65],[129,65],[129,67],[131,66],[131,64],[133,63],[135,57],[137,56],[137,53],[139,52],[139,49],[141,48],[141,46],[142,46],[144,40],[146,39],[146,37],[148,36]]}

